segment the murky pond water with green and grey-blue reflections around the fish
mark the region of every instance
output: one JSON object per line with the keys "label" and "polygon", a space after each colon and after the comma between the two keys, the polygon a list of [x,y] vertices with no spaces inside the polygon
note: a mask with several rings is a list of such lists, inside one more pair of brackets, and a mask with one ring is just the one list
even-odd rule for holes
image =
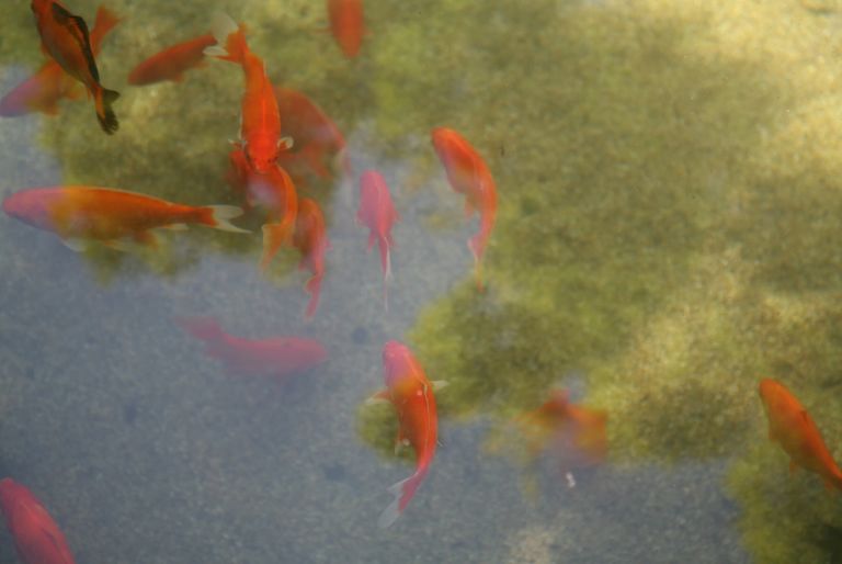
{"label": "murky pond water with green and grey-blue reflections around the fish", "polygon": [[[98,5],[67,3],[89,21]],[[122,93],[113,137],[88,101],[0,119],[2,196],[83,183],[239,204],[224,177],[240,70],[126,84],[223,9],[276,83],[333,117],[354,170],[300,187],[332,241],[310,322],[295,253],[257,268],[259,215],[240,222],[251,236],[195,227],[157,251],[83,255],[0,217],[0,474],[44,501],[77,562],[842,557],[839,496],[788,475],[756,393],[786,383],[842,456],[842,5],[369,0],[348,60],[322,2],[212,4],[107,4],[124,18],[99,56]],[[0,95],[42,60],[29,2],[4,14]],[[440,125],[497,181],[485,293],[476,221],[430,145]],[[402,216],[388,311],[354,224],[367,168]],[[283,385],[232,377],[179,316],[318,338],[329,359]],[[430,475],[382,530],[386,488],[412,467],[391,454],[392,411],[363,405],[388,339],[450,385]],[[550,459],[492,448],[557,386],[608,414],[607,460],[574,487]]]}

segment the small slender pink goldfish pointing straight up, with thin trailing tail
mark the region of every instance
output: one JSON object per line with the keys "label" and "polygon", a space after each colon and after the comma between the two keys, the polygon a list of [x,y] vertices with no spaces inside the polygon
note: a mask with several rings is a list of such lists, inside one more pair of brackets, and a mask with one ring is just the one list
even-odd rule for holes
{"label": "small slender pink goldfish pointing straight up, with thin trailing tail", "polygon": [[366,170],[360,177],[360,208],[356,221],[366,225],[368,233],[368,250],[375,241],[380,250],[380,269],[383,270],[384,298],[386,282],[391,278],[390,249],[395,245],[391,227],[400,219],[400,215],[391,203],[389,187],[383,176],[376,170]]}

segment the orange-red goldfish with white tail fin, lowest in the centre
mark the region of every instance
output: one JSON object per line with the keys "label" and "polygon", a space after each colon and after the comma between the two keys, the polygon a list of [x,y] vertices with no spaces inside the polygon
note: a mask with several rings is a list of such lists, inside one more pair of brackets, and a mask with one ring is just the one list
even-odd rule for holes
{"label": "orange-red goldfish with white tail fin, lowest in the centre", "polygon": [[383,370],[386,390],[375,394],[371,401],[391,403],[398,416],[396,450],[408,444],[416,452],[416,471],[389,487],[395,500],[377,521],[380,527],[388,527],[407,508],[430,471],[439,438],[433,387],[441,387],[444,382],[428,380],[424,369],[409,348],[395,340],[383,347]]}

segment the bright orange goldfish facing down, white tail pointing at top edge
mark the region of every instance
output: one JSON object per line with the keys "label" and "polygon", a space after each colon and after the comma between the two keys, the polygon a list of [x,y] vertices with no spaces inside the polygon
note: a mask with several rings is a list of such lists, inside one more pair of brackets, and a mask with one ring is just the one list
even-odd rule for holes
{"label": "bright orange goldfish facing down, white tail pointing at top edge", "polygon": [[217,45],[206,47],[205,55],[242,67],[246,93],[242,95],[238,145],[244,150],[254,171],[264,174],[275,163],[278,154],[292,146],[289,139],[281,137],[281,114],[275,91],[266,76],[263,59],[254,55],[246,43],[244,26],[238,26],[227,15],[218,14],[214,22],[214,37]]}

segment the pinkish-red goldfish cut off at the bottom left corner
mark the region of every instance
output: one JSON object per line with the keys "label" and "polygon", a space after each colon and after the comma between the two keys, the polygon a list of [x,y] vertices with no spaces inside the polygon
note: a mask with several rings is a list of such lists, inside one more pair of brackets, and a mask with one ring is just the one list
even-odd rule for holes
{"label": "pinkish-red goldfish cut off at the bottom left corner", "polygon": [[30,489],[12,478],[0,480],[0,509],[25,564],[73,564],[65,534]]}

